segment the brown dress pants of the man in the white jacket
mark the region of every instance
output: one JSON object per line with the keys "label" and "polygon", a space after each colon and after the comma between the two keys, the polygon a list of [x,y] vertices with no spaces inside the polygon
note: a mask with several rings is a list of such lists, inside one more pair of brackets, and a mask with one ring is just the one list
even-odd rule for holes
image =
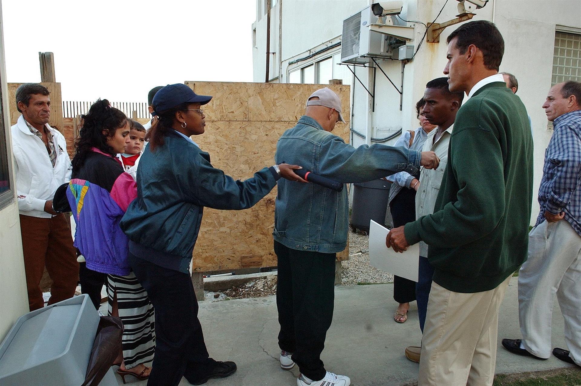
{"label": "brown dress pants of the man in the white jacket", "polygon": [[78,262],[68,213],[52,219],[20,215],[20,231],[30,310],[44,306],[40,281],[45,266],[53,281],[49,305],[73,297]]}

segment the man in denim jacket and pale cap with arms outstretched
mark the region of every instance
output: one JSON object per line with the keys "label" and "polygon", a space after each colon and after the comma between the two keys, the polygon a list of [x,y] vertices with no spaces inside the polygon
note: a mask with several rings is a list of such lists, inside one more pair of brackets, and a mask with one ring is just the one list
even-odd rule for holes
{"label": "man in denim jacket and pale cap with arms outstretched", "polygon": [[[341,183],[361,183],[419,166],[437,167],[433,152],[374,144],[354,148],[331,134],[341,116],[339,96],[315,91],[297,125],[278,140],[275,159],[301,165]],[[281,367],[299,364],[297,385],[348,386],[349,377],[325,370],[320,359],[333,319],[335,254],[347,245],[347,190],[278,181],[274,250],[278,256],[277,307]],[[292,356],[291,356],[292,353]]]}

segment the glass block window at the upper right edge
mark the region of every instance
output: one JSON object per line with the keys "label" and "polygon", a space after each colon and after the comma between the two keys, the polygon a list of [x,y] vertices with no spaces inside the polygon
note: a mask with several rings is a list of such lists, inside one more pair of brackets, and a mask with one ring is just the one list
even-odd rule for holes
{"label": "glass block window at the upper right edge", "polygon": [[557,31],[551,85],[568,80],[581,82],[581,35]]}

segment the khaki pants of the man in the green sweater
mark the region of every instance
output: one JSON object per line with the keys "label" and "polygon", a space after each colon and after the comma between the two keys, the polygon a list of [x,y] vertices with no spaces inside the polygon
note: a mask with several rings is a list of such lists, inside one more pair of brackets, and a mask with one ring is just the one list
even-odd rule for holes
{"label": "khaki pants of the man in the green sweater", "polygon": [[422,337],[418,386],[490,386],[498,308],[510,276],[490,291],[463,294],[432,283]]}

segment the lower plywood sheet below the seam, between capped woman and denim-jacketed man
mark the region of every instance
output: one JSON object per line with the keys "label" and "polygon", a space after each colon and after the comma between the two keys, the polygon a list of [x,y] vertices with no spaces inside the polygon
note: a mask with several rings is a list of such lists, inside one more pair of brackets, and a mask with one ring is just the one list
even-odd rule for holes
{"label": "lower plywood sheet below the seam, between capped woman and denim-jacketed man", "polygon": [[[213,166],[246,180],[274,164],[276,142],[288,128],[286,122],[210,121],[206,133],[194,140],[210,153]],[[276,266],[272,249],[276,189],[250,209],[205,208],[193,270]]]}

